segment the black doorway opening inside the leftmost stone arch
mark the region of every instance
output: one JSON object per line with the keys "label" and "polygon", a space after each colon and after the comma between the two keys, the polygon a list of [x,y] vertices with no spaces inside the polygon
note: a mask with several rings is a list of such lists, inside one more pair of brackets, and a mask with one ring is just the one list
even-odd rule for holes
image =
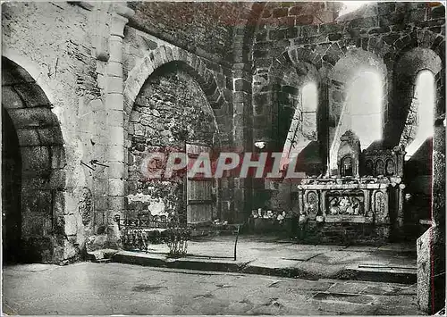
{"label": "black doorway opening inside the leftmost stone arch", "polygon": [[21,153],[13,121],[3,107],[2,206],[3,261],[15,263],[21,238]]}

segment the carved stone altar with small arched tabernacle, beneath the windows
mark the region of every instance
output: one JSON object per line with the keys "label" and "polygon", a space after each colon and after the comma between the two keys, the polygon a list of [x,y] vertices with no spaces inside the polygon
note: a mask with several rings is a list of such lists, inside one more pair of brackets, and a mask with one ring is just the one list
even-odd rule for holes
{"label": "carved stone altar with small arched tabernacle, beneath the windows", "polygon": [[299,211],[308,218],[308,230],[317,231],[308,232],[309,236],[333,243],[342,242],[343,235],[357,243],[390,238],[403,221],[403,158],[399,147],[361,152],[355,133],[344,133],[337,174],[302,179],[298,186]]}

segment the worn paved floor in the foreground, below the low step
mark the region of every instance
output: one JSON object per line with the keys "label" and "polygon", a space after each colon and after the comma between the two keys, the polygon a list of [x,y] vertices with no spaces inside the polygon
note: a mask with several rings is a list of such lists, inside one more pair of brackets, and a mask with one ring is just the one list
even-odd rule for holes
{"label": "worn paved floor in the foreground, below the low step", "polygon": [[6,314],[416,315],[416,286],[122,263],[5,266]]}

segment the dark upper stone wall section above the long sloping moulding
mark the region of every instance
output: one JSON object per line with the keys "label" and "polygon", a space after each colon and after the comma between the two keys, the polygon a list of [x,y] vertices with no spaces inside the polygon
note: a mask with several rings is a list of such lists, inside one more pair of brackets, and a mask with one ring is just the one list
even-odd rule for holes
{"label": "dark upper stone wall section above the long sloping moulding", "polygon": [[[216,63],[232,66],[232,37],[249,4],[132,3],[131,26]],[[147,41],[148,46],[154,46]]]}

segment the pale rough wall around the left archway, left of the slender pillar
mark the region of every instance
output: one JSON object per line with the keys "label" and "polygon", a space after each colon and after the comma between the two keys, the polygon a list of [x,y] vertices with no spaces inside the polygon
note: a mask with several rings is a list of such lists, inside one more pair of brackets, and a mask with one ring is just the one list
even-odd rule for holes
{"label": "pale rough wall around the left archway, left of the slender pillar", "polygon": [[[16,65],[13,78],[27,82],[21,86],[22,92],[3,87],[2,104],[8,107],[16,100],[14,94],[24,94],[25,108],[20,116],[13,114],[15,128],[34,126],[33,121],[38,121],[33,133],[25,135],[24,129],[19,133],[23,173],[28,169],[43,175],[40,182],[33,176],[22,188],[23,255],[28,261],[78,257],[92,227],[93,210],[85,196],[92,190],[92,177],[89,169],[80,165],[81,160],[92,159],[96,151],[92,141],[99,128],[95,126],[95,109],[89,106],[100,94],[90,27],[86,12],[72,4],[2,6],[2,54]],[[17,76],[17,71],[23,75]],[[3,78],[3,86],[9,83]],[[46,114],[42,108],[45,100]],[[13,112],[18,113],[10,110]],[[52,169],[57,169],[57,178],[51,172],[46,179],[46,170]]]}

